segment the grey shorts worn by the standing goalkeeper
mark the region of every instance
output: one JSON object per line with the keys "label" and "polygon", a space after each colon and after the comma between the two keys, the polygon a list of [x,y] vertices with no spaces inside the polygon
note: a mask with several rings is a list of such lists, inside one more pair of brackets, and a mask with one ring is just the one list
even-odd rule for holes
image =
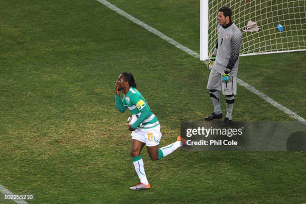
{"label": "grey shorts worn by the standing goalkeeper", "polygon": [[222,82],[221,75],[221,73],[212,68],[209,73],[207,89],[220,90],[223,95],[235,95],[237,93],[237,76],[231,76],[229,73],[229,80]]}

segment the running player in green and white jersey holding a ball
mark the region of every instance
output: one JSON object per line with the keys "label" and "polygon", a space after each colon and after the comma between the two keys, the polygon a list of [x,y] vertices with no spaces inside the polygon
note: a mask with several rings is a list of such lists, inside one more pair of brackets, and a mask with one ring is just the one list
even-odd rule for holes
{"label": "running player in green and white jersey holding a ball", "polygon": [[[124,94],[122,100],[120,98],[121,91]],[[158,160],[169,155],[178,147],[186,145],[186,139],[178,136],[175,142],[158,148],[161,138],[159,121],[137,90],[134,77],[130,72],[121,73],[115,83],[115,104],[119,112],[124,112],[128,108],[131,114],[139,116],[133,124],[128,125],[128,129],[132,131],[130,134],[132,136],[130,155],[140,179],[140,182],[135,186],[131,186],[130,189],[149,189],[150,184],[147,181],[140,155],[143,146],[146,145],[150,159]],[[138,127],[140,123],[142,125]]]}

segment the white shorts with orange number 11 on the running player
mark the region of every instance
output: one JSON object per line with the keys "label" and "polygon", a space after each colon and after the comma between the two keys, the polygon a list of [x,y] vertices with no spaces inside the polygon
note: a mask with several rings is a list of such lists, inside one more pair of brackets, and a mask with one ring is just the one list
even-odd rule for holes
{"label": "white shorts with orange number 11 on the running player", "polygon": [[156,146],[161,139],[160,125],[148,129],[137,128],[130,135],[132,139],[137,139],[146,146]]}

